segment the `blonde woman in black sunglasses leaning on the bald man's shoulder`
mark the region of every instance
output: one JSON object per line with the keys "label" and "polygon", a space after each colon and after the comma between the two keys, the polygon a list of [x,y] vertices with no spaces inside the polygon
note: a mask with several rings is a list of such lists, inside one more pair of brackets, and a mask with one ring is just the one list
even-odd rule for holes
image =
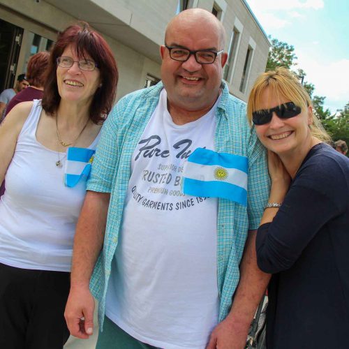
{"label": "blonde woman in black sunglasses leaning on the bald man's shoulder", "polygon": [[349,159],[328,144],[290,70],[258,77],[248,118],[272,179],[256,239],[258,266],[273,274],[267,348],[348,348]]}

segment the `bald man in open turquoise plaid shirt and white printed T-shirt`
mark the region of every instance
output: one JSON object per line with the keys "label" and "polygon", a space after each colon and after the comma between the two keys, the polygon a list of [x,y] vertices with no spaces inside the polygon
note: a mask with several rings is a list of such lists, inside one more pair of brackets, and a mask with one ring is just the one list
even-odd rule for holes
{"label": "bald man in open turquoise plaid shirt and white printed T-shirt", "polygon": [[[254,247],[268,174],[245,105],[222,80],[224,47],[214,15],[180,13],[160,47],[162,82],[122,98],[103,126],[66,306],[70,333],[86,339],[91,292],[98,299],[98,349],[246,344],[269,280]],[[184,164],[198,148],[248,162],[246,205],[182,191]]]}

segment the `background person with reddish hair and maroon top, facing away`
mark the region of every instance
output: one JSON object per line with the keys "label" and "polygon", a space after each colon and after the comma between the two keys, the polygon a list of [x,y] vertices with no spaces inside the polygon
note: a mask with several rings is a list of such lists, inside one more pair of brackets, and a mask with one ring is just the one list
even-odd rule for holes
{"label": "background person with reddish hair and maroon top, facing away", "polygon": [[27,64],[27,81],[29,82],[29,87],[23,89],[18,94],[16,94],[6,107],[6,115],[10,110],[21,102],[34,101],[34,99],[43,98],[43,89],[45,84],[45,74],[48,66],[50,54],[48,52],[39,52],[31,56]]}

